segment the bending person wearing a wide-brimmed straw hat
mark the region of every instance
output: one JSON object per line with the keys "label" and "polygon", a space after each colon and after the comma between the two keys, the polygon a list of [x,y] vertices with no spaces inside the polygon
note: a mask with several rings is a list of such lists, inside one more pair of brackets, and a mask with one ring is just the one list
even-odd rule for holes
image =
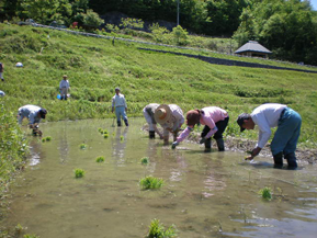
{"label": "bending person wearing a wide-brimmed straw hat", "polygon": [[183,111],[176,104],[159,105],[155,111],[155,120],[163,127],[165,145],[169,144],[169,133],[173,134],[173,141],[177,140],[178,133],[185,121]]}

